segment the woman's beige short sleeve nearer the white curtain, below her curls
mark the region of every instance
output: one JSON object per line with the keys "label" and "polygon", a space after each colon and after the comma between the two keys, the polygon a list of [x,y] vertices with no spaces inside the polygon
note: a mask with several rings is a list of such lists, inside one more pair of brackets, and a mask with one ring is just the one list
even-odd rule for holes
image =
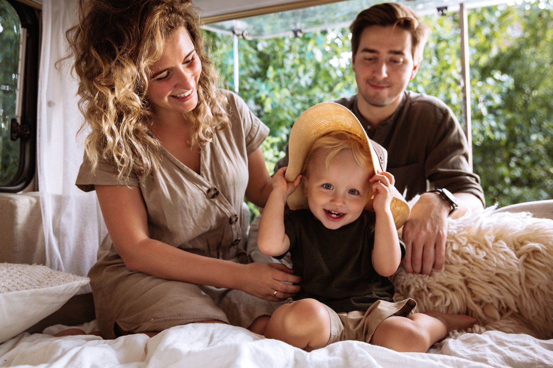
{"label": "woman's beige short sleeve nearer the white curtain, below her curls", "polygon": [[83,191],[92,191],[95,185],[139,186],[139,180],[134,174],[127,178],[117,179],[117,170],[113,166],[102,162],[98,162],[96,170],[92,172],[92,162],[85,153],[75,185]]}

